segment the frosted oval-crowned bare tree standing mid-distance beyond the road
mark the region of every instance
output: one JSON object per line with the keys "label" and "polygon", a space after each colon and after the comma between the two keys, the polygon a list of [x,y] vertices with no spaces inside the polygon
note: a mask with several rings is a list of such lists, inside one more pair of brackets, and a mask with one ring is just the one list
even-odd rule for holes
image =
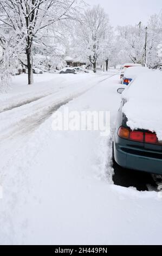
{"label": "frosted oval-crowned bare tree standing mid-distance beyond the road", "polygon": [[102,54],[103,40],[106,39],[108,29],[108,16],[100,5],[85,11],[77,34],[82,50],[93,64],[94,72],[96,72],[96,62]]}

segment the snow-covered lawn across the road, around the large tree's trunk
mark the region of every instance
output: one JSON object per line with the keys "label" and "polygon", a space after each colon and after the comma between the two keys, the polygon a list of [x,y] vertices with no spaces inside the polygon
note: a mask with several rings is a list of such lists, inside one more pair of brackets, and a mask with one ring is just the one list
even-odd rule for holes
{"label": "snow-covered lawn across the road, around the large tree's trunk", "polygon": [[[89,75],[92,78],[95,77],[93,74]],[[35,84],[28,86],[26,74],[13,77],[9,93],[0,95],[0,112],[61,92],[61,90],[68,86],[74,85],[78,80],[86,81],[87,76],[86,74],[75,76],[70,74],[60,75],[45,73],[43,75],[35,75],[34,79]]]}

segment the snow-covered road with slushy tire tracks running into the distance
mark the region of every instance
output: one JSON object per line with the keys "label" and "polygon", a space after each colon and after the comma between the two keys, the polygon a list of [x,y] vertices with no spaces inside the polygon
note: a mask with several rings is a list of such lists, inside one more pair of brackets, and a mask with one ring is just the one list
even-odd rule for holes
{"label": "snow-covered road with slushy tire tracks running into the distance", "polygon": [[[50,115],[66,105],[70,100],[87,92],[96,84],[107,80],[114,74],[100,75],[55,75],[54,78],[36,83],[31,92],[21,92],[20,95],[9,94],[0,103],[0,154],[1,167],[12,157],[12,152],[21,148],[28,141],[30,132],[37,129]],[[23,78],[18,77],[18,78]],[[87,80],[88,78],[88,80]],[[22,80],[22,79],[21,79]],[[47,84],[48,83],[48,84]]]}

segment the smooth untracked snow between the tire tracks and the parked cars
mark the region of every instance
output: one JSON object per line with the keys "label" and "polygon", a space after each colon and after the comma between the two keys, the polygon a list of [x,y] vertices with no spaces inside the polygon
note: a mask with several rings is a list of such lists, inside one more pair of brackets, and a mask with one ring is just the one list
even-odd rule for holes
{"label": "smooth untracked snow between the tire tracks and the parked cars", "polygon": [[[113,129],[120,103],[117,78],[66,107],[111,111]],[[112,184],[111,136],[54,132],[51,122],[38,127],[3,168],[1,244],[160,244],[157,193]]]}

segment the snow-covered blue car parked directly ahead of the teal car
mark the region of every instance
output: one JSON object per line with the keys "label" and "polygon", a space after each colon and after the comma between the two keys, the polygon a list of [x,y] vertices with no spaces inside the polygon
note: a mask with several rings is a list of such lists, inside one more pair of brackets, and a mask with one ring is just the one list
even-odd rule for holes
{"label": "snow-covered blue car parked directly ahead of the teal car", "polygon": [[149,71],[151,70],[148,68],[144,68],[144,66],[131,66],[124,72],[124,77],[122,77],[121,83],[127,86],[138,75]]}

